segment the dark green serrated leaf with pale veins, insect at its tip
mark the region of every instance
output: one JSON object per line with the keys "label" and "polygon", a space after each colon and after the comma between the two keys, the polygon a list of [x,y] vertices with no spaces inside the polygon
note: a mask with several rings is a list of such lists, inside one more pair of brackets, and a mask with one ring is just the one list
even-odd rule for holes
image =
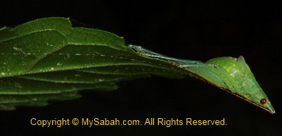
{"label": "dark green serrated leaf with pale veins, insect at its tip", "polygon": [[78,91],[115,90],[116,82],[151,74],[182,78],[178,67],[142,56],[109,32],[52,17],[0,30],[0,109],[45,106]]}

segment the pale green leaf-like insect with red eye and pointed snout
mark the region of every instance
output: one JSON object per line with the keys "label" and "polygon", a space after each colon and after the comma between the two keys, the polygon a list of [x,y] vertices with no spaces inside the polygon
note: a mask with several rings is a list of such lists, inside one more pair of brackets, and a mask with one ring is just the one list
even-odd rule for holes
{"label": "pale green leaf-like insect with red eye and pointed snout", "polygon": [[243,56],[213,58],[202,63],[195,60],[170,58],[140,46],[129,45],[129,47],[143,56],[166,60],[182,67],[188,71],[190,76],[200,78],[272,114],[275,113],[270,100],[259,87]]}

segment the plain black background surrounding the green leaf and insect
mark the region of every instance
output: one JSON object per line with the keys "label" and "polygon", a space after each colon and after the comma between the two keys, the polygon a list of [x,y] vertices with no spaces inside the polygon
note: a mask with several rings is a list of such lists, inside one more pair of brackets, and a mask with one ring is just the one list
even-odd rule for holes
{"label": "plain black background surrounding the green leaf and insect", "polygon": [[[206,61],[244,56],[276,113],[192,78],[120,82],[112,92],[82,91],[82,98],[45,107],[0,111],[1,135],[282,135],[281,5],[239,1],[0,1],[0,27],[48,16],[123,36],[167,56]],[[82,25],[78,23],[78,25]],[[31,126],[30,119],[166,117],[221,120],[226,126]]]}

